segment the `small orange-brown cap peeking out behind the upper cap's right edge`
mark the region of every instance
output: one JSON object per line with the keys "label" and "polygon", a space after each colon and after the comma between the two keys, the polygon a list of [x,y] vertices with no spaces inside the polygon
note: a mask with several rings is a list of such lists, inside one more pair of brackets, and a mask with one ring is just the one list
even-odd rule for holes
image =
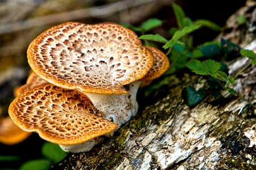
{"label": "small orange-brown cap peeking out behind the upper cap's right edge", "polygon": [[142,79],[144,82],[148,82],[164,74],[164,72],[167,71],[170,65],[170,61],[166,54],[164,54],[161,50],[154,48],[152,46],[145,47],[151,50],[151,52],[154,54],[155,59],[152,68],[148,71],[147,75],[144,76],[144,78]]}

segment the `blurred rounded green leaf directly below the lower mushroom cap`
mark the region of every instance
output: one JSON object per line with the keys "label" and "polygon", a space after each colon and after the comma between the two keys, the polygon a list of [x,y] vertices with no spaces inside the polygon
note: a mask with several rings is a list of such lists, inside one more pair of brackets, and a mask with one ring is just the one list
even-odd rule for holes
{"label": "blurred rounded green leaf directly below the lower mushroom cap", "polygon": [[60,162],[67,156],[67,152],[61,150],[59,145],[50,142],[43,143],[42,154],[53,163]]}

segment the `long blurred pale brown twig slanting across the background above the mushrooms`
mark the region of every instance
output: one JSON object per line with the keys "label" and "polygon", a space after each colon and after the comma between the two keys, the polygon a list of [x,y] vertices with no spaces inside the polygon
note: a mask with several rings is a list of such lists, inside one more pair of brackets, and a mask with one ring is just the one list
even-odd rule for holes
{"label": "long blurred pale brown twig slanting across the background above the mushrooms", "polygon": [[127,10],[127,8],[146,5],[147,3],[156,2],[158,0],[123,0],[100,7],[90,7],[58,14],[40,16],[28,20],[20,20],[14,23],[6,23],[0,25],[0,35],[15,31],[21,31],[32,27],[39,27],[46,24],[68,22],[71,20],[84,18],[104,18],[115,14],[116,12]]}

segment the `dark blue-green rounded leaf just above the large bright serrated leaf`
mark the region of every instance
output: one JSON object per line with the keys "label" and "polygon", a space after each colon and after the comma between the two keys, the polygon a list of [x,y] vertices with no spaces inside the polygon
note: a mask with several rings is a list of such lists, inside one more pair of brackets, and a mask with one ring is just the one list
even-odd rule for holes
{"label": "dark blue-green rounded leaf just above the large bright serrated leaf", "polygon": [[214,58],[220,54],[220,48],[217,44],[201,46],[199,49],[208,58]]}

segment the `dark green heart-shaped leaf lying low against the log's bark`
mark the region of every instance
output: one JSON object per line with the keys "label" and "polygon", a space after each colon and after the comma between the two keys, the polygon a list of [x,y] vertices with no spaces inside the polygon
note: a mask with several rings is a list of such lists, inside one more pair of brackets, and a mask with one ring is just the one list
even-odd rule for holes
{"label": "dark green heart-shaped leaf lying low against the log's bark", "polygon": [[183,90],[181,91],[181,96],[183,97],[184,103],[187,104],[189,107],[199,103],[207,95],[208,92],[205,88],[199,88],[199,90],[196,91],[194,87],[188,86],[183,88]]}

